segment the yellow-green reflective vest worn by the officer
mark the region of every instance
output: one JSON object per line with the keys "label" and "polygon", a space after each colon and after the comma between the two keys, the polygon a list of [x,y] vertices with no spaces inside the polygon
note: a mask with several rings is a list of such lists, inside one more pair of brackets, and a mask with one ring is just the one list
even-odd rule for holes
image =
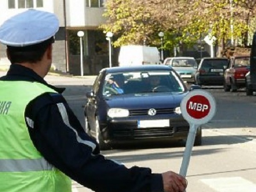
{"label": "yellow-green reflective vest worn by the officer", "polygon": [[0,192],[72,191],[70,178],[44,159],[26,126],[26,105],[46,92],[55,90],[38,82],[0,81]]}

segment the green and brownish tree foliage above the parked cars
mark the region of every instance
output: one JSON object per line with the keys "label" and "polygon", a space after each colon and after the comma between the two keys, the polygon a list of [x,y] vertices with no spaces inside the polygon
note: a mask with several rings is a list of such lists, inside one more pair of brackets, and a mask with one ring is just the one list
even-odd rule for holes
{"label": "green and brownish tree foliage above the parked cars", "polygon": [[115,47],[159,45],[157,34],[162,31],[164,46],[171,49],[208,34],[217,43],[247,37],[256,0],[108,0],[105,6],[108,20],[100,28],[113,32]]}

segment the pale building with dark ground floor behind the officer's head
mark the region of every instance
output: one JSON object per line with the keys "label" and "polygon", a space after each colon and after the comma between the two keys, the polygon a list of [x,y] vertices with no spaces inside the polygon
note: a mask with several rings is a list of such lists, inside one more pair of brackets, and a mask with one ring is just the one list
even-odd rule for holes
{"label": "pale building with dark ground floor behind the officer's head", "polygon": [[[55,13],[60,28],[53,44],[53,68],[73,75],[80,75],[83,69],[84,75],[95,75],[109,66],[108,41],[99,29],[106,20],[102,16],[104,3],[105,0],[1,0],[0,12],[5,14],[0,15],[0,24],[27,9]],[[84,32],[81,38],[77,35],[79,31]],[[115,65],[115,50],[112,54]],[[3,44],[0,44],[0,58],[6,58]]]}

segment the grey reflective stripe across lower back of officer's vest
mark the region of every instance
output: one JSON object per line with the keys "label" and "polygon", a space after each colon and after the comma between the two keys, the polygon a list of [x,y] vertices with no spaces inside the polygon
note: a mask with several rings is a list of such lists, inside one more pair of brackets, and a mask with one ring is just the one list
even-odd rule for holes
{"label": "grey reflective stripe across lower back of officer's vest", "polygon": [[44,158],[41,159],[1,159],[0,172],[29,172],[52,170],[54,167]]}

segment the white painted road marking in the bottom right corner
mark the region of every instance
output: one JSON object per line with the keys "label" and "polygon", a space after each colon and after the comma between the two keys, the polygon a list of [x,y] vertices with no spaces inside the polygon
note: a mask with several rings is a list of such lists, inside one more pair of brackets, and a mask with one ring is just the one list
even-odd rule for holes
{"label": "white painted road marking in the bottom right corner", "polygon": [[201,181],[218,192],[256,192],[256,185],[242,177],[219,177]]}

